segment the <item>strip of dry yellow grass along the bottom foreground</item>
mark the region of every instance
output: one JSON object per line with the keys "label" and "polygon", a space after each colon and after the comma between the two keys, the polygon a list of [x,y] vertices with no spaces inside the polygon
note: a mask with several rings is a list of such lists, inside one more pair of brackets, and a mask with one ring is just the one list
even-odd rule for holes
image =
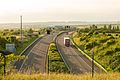
{"label": "strip of dry yellow grass along the bottom foreground", "polygon": [[0,80],[120,80],[120,73],[96,74],[94,78],[90,74],[10,74],[0,76]]}

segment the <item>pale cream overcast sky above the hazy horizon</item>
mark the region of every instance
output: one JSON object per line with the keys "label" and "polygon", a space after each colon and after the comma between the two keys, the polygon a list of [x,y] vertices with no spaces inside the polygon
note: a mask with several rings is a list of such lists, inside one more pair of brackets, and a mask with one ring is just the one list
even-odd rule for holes
{"label": "pale cream overcast sky above the hazy horizon", "polygon": [[120,0],[0,0],[0,23],[120,21]]}

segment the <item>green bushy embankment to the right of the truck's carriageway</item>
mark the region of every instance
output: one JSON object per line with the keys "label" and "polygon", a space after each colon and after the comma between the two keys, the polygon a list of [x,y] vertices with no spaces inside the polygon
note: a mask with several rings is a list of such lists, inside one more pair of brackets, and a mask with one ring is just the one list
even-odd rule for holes
{"label": "green bushy embankment to the right of the truck's carriageway", "polygon": [[[95,60],[108,71],[120,72],[120,35],[105,33],[74,33],[74,42],[91,57],[94,50]],[[94,47],[93,47],[94,42]],[[94,49],[93,49],[94,48]]]}

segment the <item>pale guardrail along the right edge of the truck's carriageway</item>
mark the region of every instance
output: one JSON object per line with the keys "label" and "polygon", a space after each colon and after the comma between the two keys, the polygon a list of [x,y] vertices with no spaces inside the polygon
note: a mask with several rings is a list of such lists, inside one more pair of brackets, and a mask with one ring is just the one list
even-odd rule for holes
{"label": "pale guardrail along the right edge of the truck's carriageway", "polygon": [[[78,51],[80,51],[83,55],[85,55],[90,61],[93,60],[90,56],[88,56],[84,51],[82,51],[82,50],[78,47],[78,45],[74,42],[72,36],[70,37],[70,39],[71,39],[72,44],[78,49]],[[94,63],[95,63],[99,68],[101,68],[104,72],[107,73],[107,70],[106,70],[102,65],[100,65],[100,64],[99,64],[98,62],[96,62],[95,60],[93,60],[93,61],[94,61]]]}

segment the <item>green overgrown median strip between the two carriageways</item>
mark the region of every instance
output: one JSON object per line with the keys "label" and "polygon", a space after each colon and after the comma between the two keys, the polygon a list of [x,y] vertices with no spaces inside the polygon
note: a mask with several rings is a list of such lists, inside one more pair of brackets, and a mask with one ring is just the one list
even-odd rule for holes
{"label": "green overgrown median strip between the two carriageways", "polygon": [[48,51],[48,72],[67,73],[68,69],[65,66],[55,43],[51,43]]}

